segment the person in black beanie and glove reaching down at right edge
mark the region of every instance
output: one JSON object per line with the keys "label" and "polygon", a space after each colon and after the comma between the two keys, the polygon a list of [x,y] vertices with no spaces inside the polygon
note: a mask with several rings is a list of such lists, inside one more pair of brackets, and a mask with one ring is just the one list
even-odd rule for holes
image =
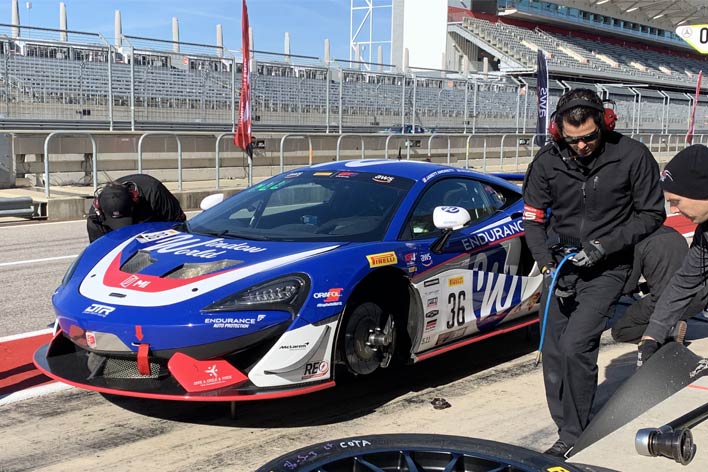
{"label": "person in black beanie and glove reaching down at right edge", "polygon": [[[694,144],[674,156],[661,173],[664,198],[672,212],[698,224],[691,247],[656,303],[649,325],[639,342],[641,366],[664,344],[708,280],[708,148]],[[694,313],[697,314],[697,313]]]}

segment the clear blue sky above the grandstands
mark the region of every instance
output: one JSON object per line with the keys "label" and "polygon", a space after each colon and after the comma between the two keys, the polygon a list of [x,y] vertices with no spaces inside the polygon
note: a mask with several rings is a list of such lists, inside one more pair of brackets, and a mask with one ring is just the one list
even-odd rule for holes
{"label": "clear blue sky above the grandstands", "polygon": [[[364,0],[355,2],[361,5]],[[58,0],[31,0],[29,10],[27,3],[19,1],[20,24],[59,28]],[[114,12],[120,10],[124,35],[171,40],[175,16],[182,42],[215,44],[216,25],[221,24],[224,46],[241,48],[241,0],[64,0],[64,4],[69,30],[101,33],[111,42]],[[247,5],[252,49],[281,53],[287,31],[292,54],[322,58],[328,38],[332,58],[349,58],[350,0],[247,0]],[[390,22],[390,9],[378,11],[384,11],[379,20],[387,16]],[[9,24],[11,19],[12,0],[0,0],[0,22]]]}

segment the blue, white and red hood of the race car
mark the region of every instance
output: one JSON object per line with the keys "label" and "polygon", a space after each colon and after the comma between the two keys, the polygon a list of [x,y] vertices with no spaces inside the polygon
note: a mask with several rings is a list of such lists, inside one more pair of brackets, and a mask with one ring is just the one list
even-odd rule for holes
{"label": "blue, white and red hood of the race car", "polygon": [[[75,274],[79,293],[111,305],[159,307],[203,296],[234,282],[267,280],[278,268],[326,253],[336,243],[218,238],[175,229],[140,233]],[[270,273],[269,273],[270,272]],[[254,280],[253,276],[258,276]],[[240,285],[240,284],[239,284]]]}

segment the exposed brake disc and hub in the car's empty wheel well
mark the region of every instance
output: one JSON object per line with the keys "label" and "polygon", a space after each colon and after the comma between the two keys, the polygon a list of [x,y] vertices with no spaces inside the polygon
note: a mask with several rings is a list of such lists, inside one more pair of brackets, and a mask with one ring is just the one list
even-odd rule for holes
{"label": "exposed brake disc and hub in the car's empty wheel well", "polygon": [[367,375],[388,367],[396,349],[394,316],[372,302],[357,305],[346,318],[342,345],[347,367]]}

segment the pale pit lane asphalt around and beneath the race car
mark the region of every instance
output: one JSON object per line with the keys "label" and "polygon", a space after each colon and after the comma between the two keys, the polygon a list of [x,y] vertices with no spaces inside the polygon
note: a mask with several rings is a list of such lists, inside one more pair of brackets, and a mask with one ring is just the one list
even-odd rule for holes
{"label": "pale pit lane asphalt around and beneath the race car", "polygon": [[[0,227],[6,249],[0,255],[2,335],[42,329],[53,320],[51,293],[70,256],[88,242],[84,225]],[[632,345],[614,344],[607,333],[603,339],[598,405],[631,375],[636,355]],[[556,437],[541,369],[533,366],[536,342],[525,332],[491,338],[316,394],[237,404],[233,419],[226,404],[146,401],[78,389],[32,398],[0,406],[0,470],[250,471],[315,442],[402,432],[480,437],[542,450]],[[431,401],[437,397],[451,407],[434,409]],[[705,462],[682,467],[656,459],[654,464],[657,471],[706,470],[696,468]]]}

